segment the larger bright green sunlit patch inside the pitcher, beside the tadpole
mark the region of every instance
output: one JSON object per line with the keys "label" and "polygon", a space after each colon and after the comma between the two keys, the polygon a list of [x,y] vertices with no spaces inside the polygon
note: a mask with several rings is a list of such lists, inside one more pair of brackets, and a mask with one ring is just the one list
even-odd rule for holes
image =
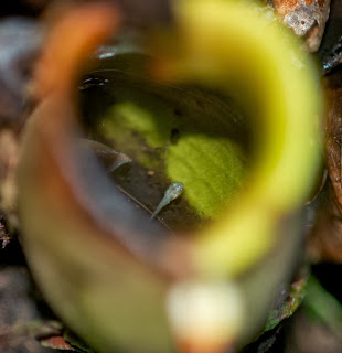
{"label": "larger bright green sunlit patch inside the pitcher, beside the tadpole", "polygon": [[188,135],[170,146],[167,173],[185,185],[184,197],[204,218],[213,218],[243,185],[245,156],[228,139]]}

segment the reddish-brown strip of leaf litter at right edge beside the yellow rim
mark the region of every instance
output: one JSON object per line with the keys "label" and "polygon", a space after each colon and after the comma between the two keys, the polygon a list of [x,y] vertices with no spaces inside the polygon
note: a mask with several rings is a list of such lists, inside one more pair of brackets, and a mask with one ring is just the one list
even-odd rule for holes
{"label": "reddish-brown strip of leaf litter at right edge beside the yellow rim", "polygon": [[328,111],[324,121],[328,184],[316,224],[308,237],[308,249],[314,261],[342,261],[342,71],[325,78]]}

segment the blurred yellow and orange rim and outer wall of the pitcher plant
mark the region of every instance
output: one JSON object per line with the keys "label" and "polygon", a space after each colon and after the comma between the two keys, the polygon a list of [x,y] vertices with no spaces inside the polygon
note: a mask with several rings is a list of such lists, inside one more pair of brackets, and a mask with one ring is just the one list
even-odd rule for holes
{"label": "blurred yellow and orange rim and outer wall of the pitcher plant", "polygon": [[[145,33],[153,54],[151,79],[221,89],[247,113],[253,132],[244,190],[191,237],[171,236],[151,222],[75,143],[82,136],[79,77],[96,46],[119,28],[117,9],[90,3],[70,10],[50,31],[33,82],[38,104],[18,171],[24,252],[55,311],[101,352],[117,345],[171,352],[169,320],[185,346],[207,352],[255,334],[274,288],[290,271],[287,259],[296,256],[299,232],[291,222],[284,227],[284,220],[300,210],[319,168],[319,82],[297,40],[243,1],[174,1],[173,15],[173,28]],[[281,266],[246,329],[245,299],[235,282],[265,258],[276,261],[280,247]],[[210,330],[179,315],[181,298],[203,292],[213,309],[207,322],[217,313],[214,302],[236,302]],[[195,317],[199,308],[192,309]],[[210,332],[200,340],[201,330]]]}

